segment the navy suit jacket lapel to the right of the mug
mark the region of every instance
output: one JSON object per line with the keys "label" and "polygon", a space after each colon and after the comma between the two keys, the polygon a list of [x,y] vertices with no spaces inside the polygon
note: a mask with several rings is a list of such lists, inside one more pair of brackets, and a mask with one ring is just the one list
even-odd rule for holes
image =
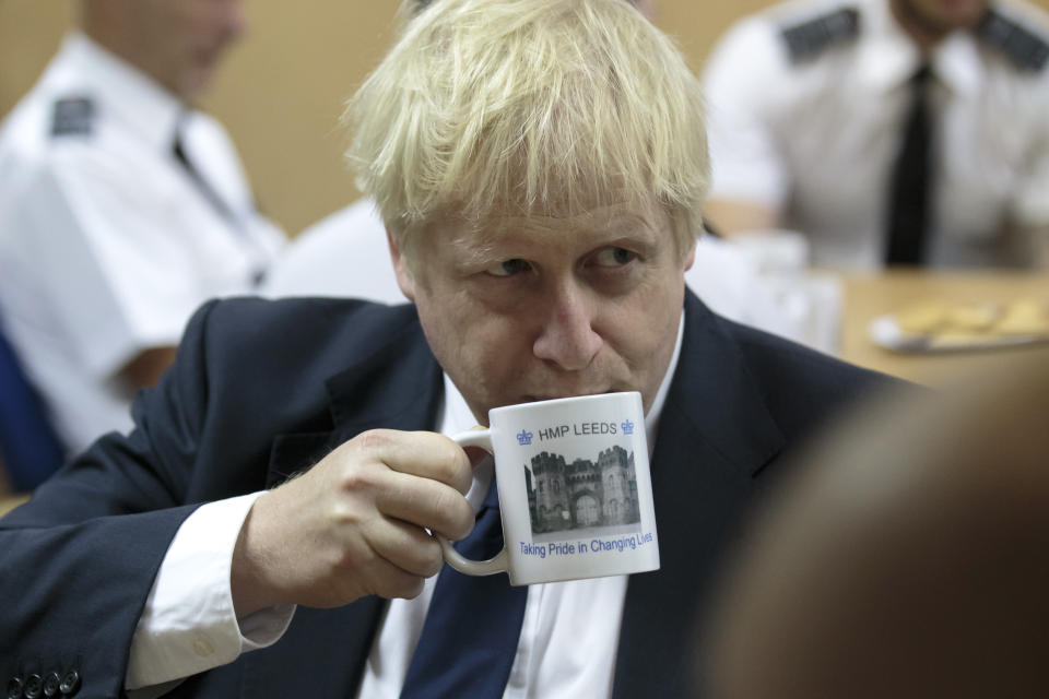
{"label": "navy suit jacket lapel to the right of the mug", "polygon": [[686,689],[698,601],[753,475],[783,445],[740,347],[692,293],[684,332],[651,463],[660,570],[629,580],[615,697]]}

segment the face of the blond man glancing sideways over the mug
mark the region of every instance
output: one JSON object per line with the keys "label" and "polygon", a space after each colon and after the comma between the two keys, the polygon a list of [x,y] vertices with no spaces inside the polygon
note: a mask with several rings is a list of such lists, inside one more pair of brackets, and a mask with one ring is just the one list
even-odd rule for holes
{"label": "face of the blond man glancing sideways over the mug", "polygon": [[610,391],[640,391],[650,407],[694,250],[661,210],[446,220],[417,235],[414,275],[391,246],[398,280],[480,422],[500,405]]}

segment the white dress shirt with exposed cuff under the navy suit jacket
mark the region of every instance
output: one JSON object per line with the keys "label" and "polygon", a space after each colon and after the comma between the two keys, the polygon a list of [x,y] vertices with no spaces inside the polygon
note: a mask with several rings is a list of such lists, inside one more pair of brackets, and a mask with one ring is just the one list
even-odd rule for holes
{"label": "white dress shirt with exposed cuff under the navy suit jacket", "polygon": [[[681,354],[684,315],[674,353],[645,417],[649,455],[656,445],[671,379]],[[438,431],[453,435],[476,419],[445,376]],[[474,470],[467,500],[476,511],[492,479],[491,461]],[[223,665],[241,652],[279,642],[293,607],[258,612],[239,626],[233,611],[229,567],[251,503],[261,493],[200,507],[179,528],[164,557],[131,642],[126,688],[160,685]],[[414,600],[392,600],[364,678],[362,699],[400,695],[423,630],[436,576]],[[611,695],[628,578],[614,576],[530,585],[517,656],[504,697],[599,699]]]}

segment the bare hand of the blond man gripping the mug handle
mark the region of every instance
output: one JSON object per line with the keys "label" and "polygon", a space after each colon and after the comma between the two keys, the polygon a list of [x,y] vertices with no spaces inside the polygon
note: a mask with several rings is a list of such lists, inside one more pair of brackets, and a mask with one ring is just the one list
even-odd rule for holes
{"label": "bare hand of the blond man gripping the mug handle", "polygon": [[275,604],[334,607],[414,597],[441,567],[423,528],[473,529],[465,452],[435,433],[373,430],[256,500],[233,556],[237,616]]}

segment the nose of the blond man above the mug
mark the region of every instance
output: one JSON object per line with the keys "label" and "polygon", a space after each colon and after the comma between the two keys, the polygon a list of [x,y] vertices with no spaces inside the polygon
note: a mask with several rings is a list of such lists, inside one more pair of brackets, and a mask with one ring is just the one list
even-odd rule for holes
{"label": "nose of the blond man above the mug", "polygon": [[604,343],[593,330],[594,313],[594,301],[586,291],[574,285],[556,289],[547,301],[533,354],[565,371],[587,368]]}

